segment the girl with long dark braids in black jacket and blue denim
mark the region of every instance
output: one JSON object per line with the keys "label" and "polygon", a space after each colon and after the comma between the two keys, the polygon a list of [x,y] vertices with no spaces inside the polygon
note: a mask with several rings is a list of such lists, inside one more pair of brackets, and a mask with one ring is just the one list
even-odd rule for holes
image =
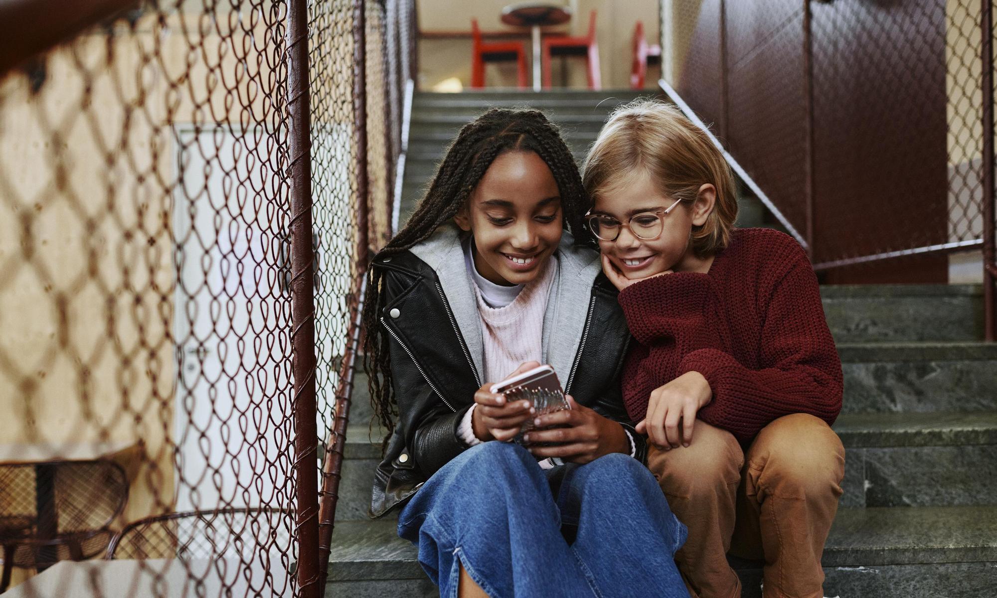
{"label": "girl with long dark braids in black jacket and blue denim", "polygon": [[[686,595],[685,528],[623,409],[629,334],[586,209],[556,128],[494,109],[372,265],[365,365],[390,436],[371,514],[404,505],[399,535],[441,596]],[[490,389],[538,362],[571,409],[507,442],[534,415]]]}

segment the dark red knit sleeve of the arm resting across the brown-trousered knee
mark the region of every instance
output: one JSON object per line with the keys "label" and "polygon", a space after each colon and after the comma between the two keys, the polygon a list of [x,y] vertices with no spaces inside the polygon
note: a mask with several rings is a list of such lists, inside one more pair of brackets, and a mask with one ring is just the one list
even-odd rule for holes
{"label": "dark red knit sleeve of the arm resting across the brown-trousered knee", "polygon": [[762,322],[758,370],[717,349],[683,356],[676,375],[699,372],[713,390],[699,418],[742,443],[790,414],[811,414],[833,424],[841,409],[841,362],[806,256],[776,283]]}

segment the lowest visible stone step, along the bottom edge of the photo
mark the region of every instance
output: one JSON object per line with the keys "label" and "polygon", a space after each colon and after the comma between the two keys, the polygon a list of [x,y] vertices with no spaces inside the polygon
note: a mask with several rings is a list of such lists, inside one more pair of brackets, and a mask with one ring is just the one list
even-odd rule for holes
{"label": "lowest visible stone step, along the bottom edge of the photo", "polygon": [[[327,596],[435,596],[416,548],[390,516],[337,522]],[[997,587],[997,506],[840,508],[824,551],[829,596],[983,598]],[[744,596],[761,568],[733,560]]]}

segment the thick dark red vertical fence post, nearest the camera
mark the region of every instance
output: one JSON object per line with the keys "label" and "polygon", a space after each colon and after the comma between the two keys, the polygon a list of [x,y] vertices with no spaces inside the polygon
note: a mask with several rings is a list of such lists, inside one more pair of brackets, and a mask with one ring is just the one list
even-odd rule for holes
{"label": "thick dark red vertical fence post, nearest the camera", "polygon": [[315,288],[312,270],[312,188],[308,95],[308,6],[291,0],[287,9],[287,108],[291,233],[291,369],[294,376],[295,529],[300,595],[321,595],[318,562],[318,446],[315,403]]}

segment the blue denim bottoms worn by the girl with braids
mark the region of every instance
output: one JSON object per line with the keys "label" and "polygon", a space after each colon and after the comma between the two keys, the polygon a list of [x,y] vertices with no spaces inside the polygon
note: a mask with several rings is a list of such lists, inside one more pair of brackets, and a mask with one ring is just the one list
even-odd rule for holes
{"label": "blue denim bottoms worn by the girl with braids", "polygon": [[674,561],[686,528],[625,454],[544,471],[518,445],[479,445],[416,492],[398,535],[444,597],[461,564],[492,598],[689,595]]}

